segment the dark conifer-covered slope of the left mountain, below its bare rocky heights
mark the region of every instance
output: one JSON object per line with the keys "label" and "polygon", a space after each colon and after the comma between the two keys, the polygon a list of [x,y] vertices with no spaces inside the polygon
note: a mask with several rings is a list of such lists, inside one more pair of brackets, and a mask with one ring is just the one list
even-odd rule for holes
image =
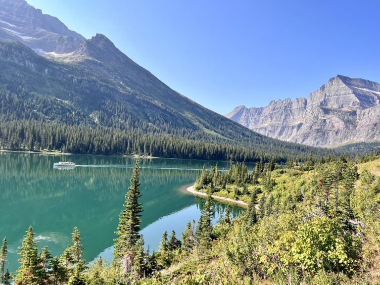
{"label": "dark conifer-covered slope of the left mountain, below its bare rocky heights", "polygon": [[[124,60],[113,48],[99,52]],[[119,80],[130,86],[120,85],[107,60],[101,60],[105,66],[95,59],[63,63],[21,43],[0,42],[5,67],[0,70],[0,148],[233,161],[274,157],[277,162],[303,160],[310,152],[339,154],[252,132],[176,93],[135,63],[129,68],[141,78],[123,77]]]}

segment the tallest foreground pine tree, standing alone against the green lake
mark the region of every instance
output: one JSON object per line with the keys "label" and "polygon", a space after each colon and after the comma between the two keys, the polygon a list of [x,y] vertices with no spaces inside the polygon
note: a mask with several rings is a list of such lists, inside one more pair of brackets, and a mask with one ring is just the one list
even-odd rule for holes
{"label": "tallest foreground pine tree, standing alone against the green lake", "polygon": [[129,250],[133,249],[140,237],[142,204],[139,202],[141,197],[139,159],[136,160],[130,182],[131,186],[125,196],[124,209],[120,213],[119,225],[117,232],[115,232],[118,238],[115,238],[114,258],[122,258]]}

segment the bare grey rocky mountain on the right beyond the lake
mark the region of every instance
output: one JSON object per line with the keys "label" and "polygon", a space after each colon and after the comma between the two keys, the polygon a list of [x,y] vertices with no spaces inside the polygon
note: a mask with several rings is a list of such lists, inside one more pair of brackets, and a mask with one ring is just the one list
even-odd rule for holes
{"label": "bare grey rocky mountain on the right beyond the lake", "polygon": [[238,106],[225,115],[260,134],[313,146],[380,139],[380,84],[337,75],[307,99]]}

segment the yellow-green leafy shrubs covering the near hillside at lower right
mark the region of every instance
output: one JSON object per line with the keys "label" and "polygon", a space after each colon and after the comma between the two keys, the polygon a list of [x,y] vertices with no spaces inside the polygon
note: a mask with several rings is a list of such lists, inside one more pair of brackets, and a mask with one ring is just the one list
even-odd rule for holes
{"label": "yellow-green leafy shrubs covering the near hillside at lower right", "polygon": [[[325,192],[319,179],[333,164],[273,171],[271,189],[249,185],[239,196],[249,200],[259,188],[259,199],[274,197],[272,212],[253,226],[244,215],[217,225],[212,248],[179,260],[160,277],[161,284],[379,285],[380,180],[370,173],[375,165],[380,160],[358,165],[362,176],[350,194],[350,217],[341,212],[340,196],[337,209],[321,209]],[[236,188],[228,185],[214,194],[232,198]],[[343,188],[339,183],[338,194]]]}

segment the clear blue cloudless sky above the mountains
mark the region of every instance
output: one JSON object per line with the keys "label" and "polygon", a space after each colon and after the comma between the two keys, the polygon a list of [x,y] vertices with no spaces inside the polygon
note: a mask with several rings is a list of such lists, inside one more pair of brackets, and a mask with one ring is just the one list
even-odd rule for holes
{"label": "clear blue cloudless sky above the mountains", "polygon": [[27,1],[221,114],[307,96],[336,74],[380,82],[379,0]]}

